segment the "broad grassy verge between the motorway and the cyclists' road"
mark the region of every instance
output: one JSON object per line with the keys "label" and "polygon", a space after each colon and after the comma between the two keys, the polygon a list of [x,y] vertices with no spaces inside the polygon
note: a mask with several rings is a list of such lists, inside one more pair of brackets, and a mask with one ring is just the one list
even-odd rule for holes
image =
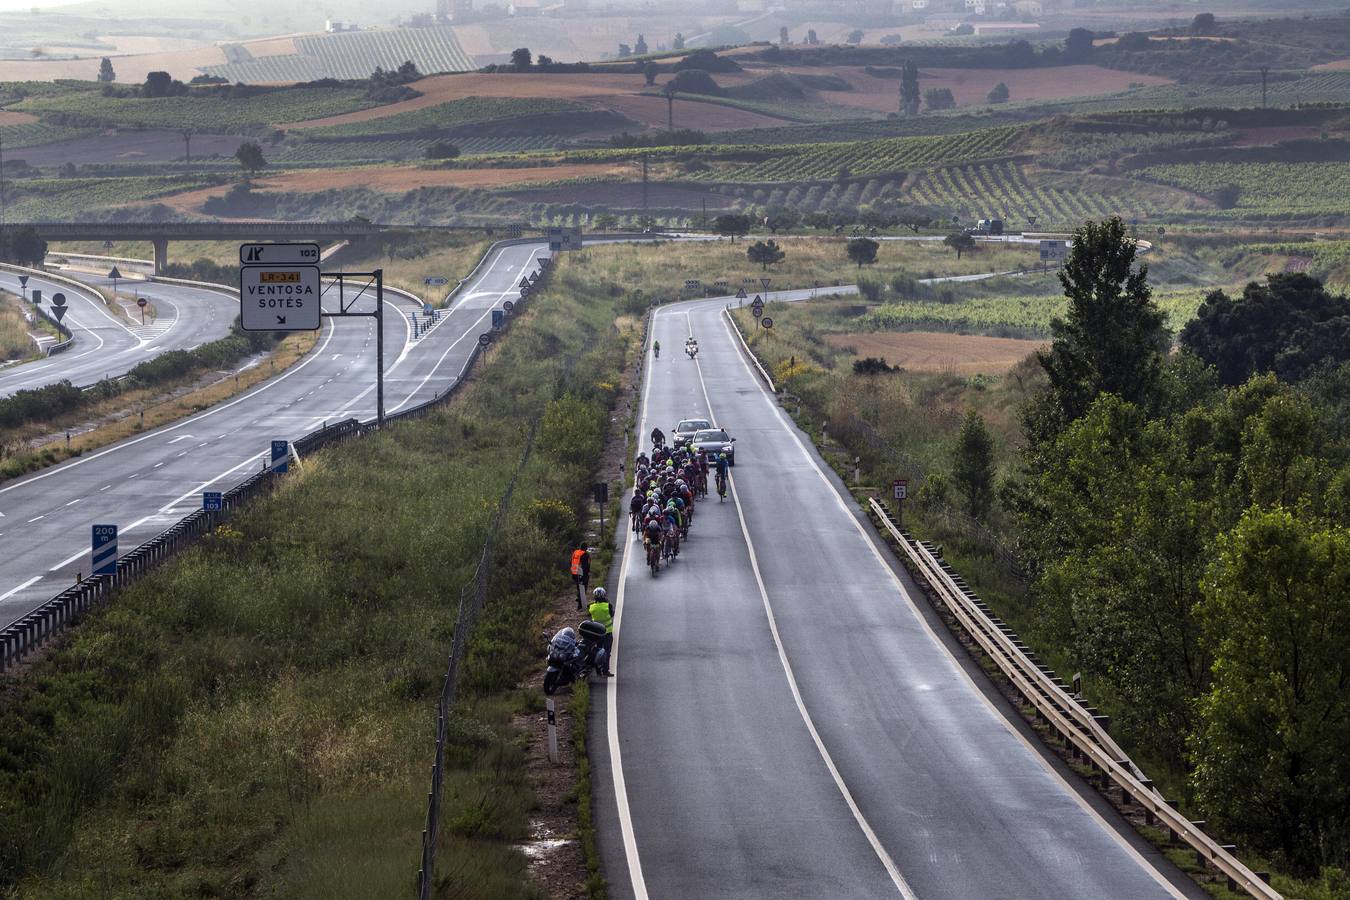
{"label": "broad grassy verge between the motorway and the cyclists' road", "polygon": [[402,896],[455,607],[535,421],[450,723],[437,896],[529,897],[513,715],[630,333],[559,279],[433,416],[306,460],[0,711],[0,891]]}

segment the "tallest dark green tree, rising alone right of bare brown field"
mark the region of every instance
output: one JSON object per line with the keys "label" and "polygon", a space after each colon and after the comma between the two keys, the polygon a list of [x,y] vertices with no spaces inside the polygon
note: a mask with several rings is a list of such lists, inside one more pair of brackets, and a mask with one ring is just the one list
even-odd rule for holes
{"label": "tallest dark green tree, rising alone right of bare brown field", "polygon": [[1037,354],[1049,386],[1026,421],[1033,444],[1053,440],[1099,394],[1152,409],[1170,336],[1135,250],[1119,219],[1075,232],[1060,270],[1068,314],[1050,322],[1050,349]]}

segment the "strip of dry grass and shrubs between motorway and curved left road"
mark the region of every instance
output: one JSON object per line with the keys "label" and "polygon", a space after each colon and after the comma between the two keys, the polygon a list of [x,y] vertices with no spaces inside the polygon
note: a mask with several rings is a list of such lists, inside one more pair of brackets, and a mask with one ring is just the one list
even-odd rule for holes
{"label": "strip of dry grass and shrubs between motorway and curved left road", "polygon": [[[70,413],[5,429],[0,432],[0,482],[200,413],[290,368],[317,341],[317,333],[290,335],[256,366],[234,375],[197,374],[167,387],[134,387]],[[69,439],[54,436],[62,430]]]}

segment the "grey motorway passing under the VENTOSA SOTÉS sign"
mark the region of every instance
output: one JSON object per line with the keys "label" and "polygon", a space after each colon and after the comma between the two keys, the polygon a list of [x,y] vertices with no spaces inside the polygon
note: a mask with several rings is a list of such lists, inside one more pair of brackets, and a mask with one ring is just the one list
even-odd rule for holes
{"label": "grey motorway passing under the VENTOSA SOT\u00c9S sign", "polygon": [[[447,390],[490,313],[547,255],[543,244],[498,250],[447,317],[410,340],[405,300],[386,297],[385,409]],[[358,305],[360,308],[371,308]],[[325,302],[325,309],[329,305]],[[273,439],[298,439],[325,421],[375,416],[375,325],[325,320],[302,362],[239,397],[144,434],[0,486],[0,626],[89,572],[89,526],[116,524],[122,553],[262,466]]]}

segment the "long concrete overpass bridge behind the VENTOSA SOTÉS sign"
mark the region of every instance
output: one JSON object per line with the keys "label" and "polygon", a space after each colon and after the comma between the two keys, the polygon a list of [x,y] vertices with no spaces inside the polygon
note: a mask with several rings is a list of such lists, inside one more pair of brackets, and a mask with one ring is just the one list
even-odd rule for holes
{"label": "long concrete overpass bridge behind the VENTOSA SOT\u00c9S sign", "polygon": [[346,240],[408,227],[343,221],[177,221],[177,223],[24,223],[43,240],[146,240],[155,248],[155,273],[169,262],[170,240]]}

